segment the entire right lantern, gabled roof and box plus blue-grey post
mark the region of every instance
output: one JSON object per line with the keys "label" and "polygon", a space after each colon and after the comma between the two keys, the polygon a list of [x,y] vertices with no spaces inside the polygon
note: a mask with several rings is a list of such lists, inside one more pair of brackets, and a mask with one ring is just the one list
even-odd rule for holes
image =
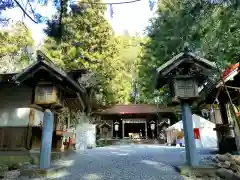
{"label": "entire right lantern, gabled roof and box plus blue-grey post", "polygon": [[190,166],[199,163],[190,104],[198,98],[201,89],[208,85],[208,75],[213,74],[214,69],[214,63],[190,52],[180,53],[157,68],[156,88],[168,84],[173,102],[181,104],[186,157]]}

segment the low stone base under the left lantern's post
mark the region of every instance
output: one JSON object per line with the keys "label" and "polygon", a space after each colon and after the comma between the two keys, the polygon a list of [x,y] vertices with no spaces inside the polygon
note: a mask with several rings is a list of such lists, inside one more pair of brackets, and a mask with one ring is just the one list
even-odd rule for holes
{"label": "low stone base under the left lantern's post", "polygon": [[51,167],[48,169],[40,169],[40,168],[22,169],[22,170],[20,170],[20,176],[50,178],[66,169],[67,169],[67,167],[65,167],[65,166]]}

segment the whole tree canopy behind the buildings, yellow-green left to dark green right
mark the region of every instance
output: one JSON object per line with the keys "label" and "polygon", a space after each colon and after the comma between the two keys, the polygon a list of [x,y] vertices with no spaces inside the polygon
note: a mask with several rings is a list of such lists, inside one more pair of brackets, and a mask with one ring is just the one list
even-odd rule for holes
{"label": "whole tree canopy behind the buildings, yellow-green left to dark green right", "polygon": [[[79,3],[67,11],[64,2],[65,6],[56,6],[57,13],[48,20],[41,49],[66,71],[87,68],[96,73],[95,91],[103,94],[107,104],[155,103],[156,97],[161,103],[167,102],[167,89],[154,90],[155,69],[185,47],[216,62],[221,69],[239,60],[238,1],[158,1],[145,37],[130,36],[127,31],[116,35],[104,15],[107,5]],[[29,53],[34,47],[31,32],[22,23],[11,28],[12,33],[1,30],[1,67],[6,57],[12,62],[11,68],[4,67],[2,72],[21,69],[33,60]],[[60,40],[56,38],[59,33]]]}

